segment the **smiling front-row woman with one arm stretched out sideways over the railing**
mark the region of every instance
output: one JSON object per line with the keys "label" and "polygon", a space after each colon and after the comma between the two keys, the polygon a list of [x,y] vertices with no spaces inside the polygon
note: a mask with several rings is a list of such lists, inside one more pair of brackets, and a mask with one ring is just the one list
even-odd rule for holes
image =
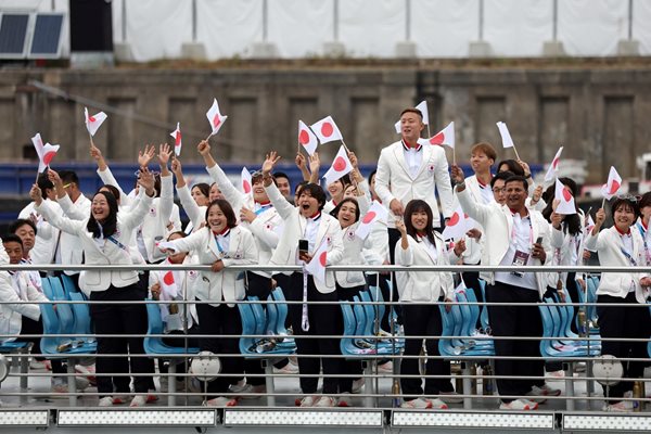
{"label": "smiling front-row woman with one arm stretched out sideways over the railing", "polygon": [[[210,271],[200,271],[194,295],[201,323],[200,348],[215,354],[240,354],[239,336],[242,334],[240,309],[235,302],[244,299],[244,273],[229,270],[231,265],[257,264],[258,252],[252,233],[237,225],[230,204],[218,199],[208,205],[206,225],[186,238],[162,243],[167,252],[192,252],[199,264],[209,265]],[[220,337],[215,337],[219,335]],[[228,337],[227,337],[228,336]],[[240,357],[221,357],[221,373],[243,373]],[[228,393],[232,375],[220,375],[207,384],[209,407],[232,407],[234,398]]]}

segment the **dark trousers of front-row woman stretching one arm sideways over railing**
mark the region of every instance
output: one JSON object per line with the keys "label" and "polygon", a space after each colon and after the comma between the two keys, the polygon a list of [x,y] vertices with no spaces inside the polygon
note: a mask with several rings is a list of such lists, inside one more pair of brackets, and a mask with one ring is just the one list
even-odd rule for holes
{"label": "dark trousers of front-row woman stretching one arm sideways over railing", "polygon": [[[234,354],[235,356],[230,357],[219,356],[221,373],[243,374],[244,367],[239,345],[242,335],[242,318],[238,306],[228,307],[224,302],[219,306],[197,303],[196,314],[199,315],[200,334],[205,336],[200,340],[200,348],[215,354]],[[220,337],[216,335],[220,335]],[[233,380],[237,381],[231,375],[219,375],[216,380],[208,382],[209,398],[228,392],[228,386]]]}

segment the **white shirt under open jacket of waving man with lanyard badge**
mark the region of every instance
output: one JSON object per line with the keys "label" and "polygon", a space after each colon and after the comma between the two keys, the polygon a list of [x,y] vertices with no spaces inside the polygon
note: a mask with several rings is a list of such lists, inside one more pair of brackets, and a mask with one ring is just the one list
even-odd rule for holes
{"label": "white shirt under open jacket of waving man with lanyard badge", "polygon": [[[499,265],[513,265],[515,251],[527,253],[528,258],[525,265],[531,265],[532,246],[534,244],[534,240],[532,240],[532,237],[533,229],[531,217],[527,215],[523,218],[520,216],[519,213],[515,213],[513,215],[513,231],[511,232],[511,239],[509,241],[509,250],[507,251],[507,254],[501,259]],[[523,272],[522,277],[518,277],[509,271],[499,271],[495,273],[495,280],[510,285],[538,291],[536,286],[536,275],[533,272]]]}

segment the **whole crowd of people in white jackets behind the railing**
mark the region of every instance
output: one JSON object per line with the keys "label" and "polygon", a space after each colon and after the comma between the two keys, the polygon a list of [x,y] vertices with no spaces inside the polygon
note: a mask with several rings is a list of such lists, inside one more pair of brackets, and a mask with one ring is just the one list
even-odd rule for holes
{"label": "whole crowd of people in white jackets behind the railing", "polygon": [[[519,337],[495,340],[500,409],[535,410],[547,397],[561,393],[544,381],[546,368],[537,339],[542,335],[542,327],[537,303],[550,293],[565,299],[565,291],[572,302],[578,302],[577,294],[586,285],[583,276],[556,271],[398,271],[392,277],[328,270],[321,278],[307,272],[307,266],[322,260],[318,254],[322,251],[327,252],[323,266],[580,266],[591,251],[599,254],[605,266],[648,267],[651,194],[641,199],[617,197],[611,206],[614,226],[600,231],[605,219],[605,210],[600,208],[596,225],[588,228],[588,216],[577,207],[574,214],[557,213],[559,201],[553,186],[547,191],[535,186],[526,163],[497,163],[493,145],[480,142],[470,154],[474,174],[467,177],[458,165],[449,167],[443,148],[421,138],[423,128],[420,111],[406,108],[400,115],[400,140],[382,150],[376,171],[368,180],[359,171],[355,154],[348,152],[353,170],[321,186],[318,153],[305,157],[298,152],[295,163],[304,181],[293,192],[289,177],[275,170],[280,161],[276,152],[267,154],[261,169],[252,174],[251,191],[243,192],[231,183],[204,140],[197,152],[214,181],[212,186],[197,183],[190,188],[180,159],[162,144],[157,152],[154,146],[145,146],[139,153],[137,181],[128,186],[133,189],[126,193],[91,142],[90,155],[105,186],[88,200],[74,173],[48,168],[30,190],[33,202],[11,225],[10,233],[2,237],[0,261],[59,264],[63,268],[79,264],[169,267],[169,271],[152,272],[63,271],[94,302],[90,316],[97,333],[97,353],[104,356],[97,358],[94,369],[102,407],[123,404],[133,393],[132,407],[156,399],[155,362],[138,357],[144,354],[143,339],[136,336],[148,330],[144,304],[102,302],[164,301],[159,309],[167,344],[190,344],[205,352],[231,355],[221,357],[225,375],[205,385],[204,404],[225,407],[235,406],[238,394],[265,392],[259,361],[237,356],[242,335],[237,304],[246,296],[267,299],[275,288],[281,288],[288,301],[298,302],[288,306],[288,326],[297,357],[279,361],[275,370],[299,378],[301,397],[296,403],[301,407],[349,406],[350,394],[360,391],[363,378],[359,361],[337,357],[341,349],[336,336],[343,333],[337,303],[353,301],[368,285],[379,285],[384,299],[400,302],[395,310],[405,336],[403,355],[409,356],[381,360],[379,371],[394,373],[398,371],[394,363],[400,365],[401,407],[445,409],[450,403],[459,403],[460,397],[446,378],[450,375],[450,362],[438,357],[438,337],[443,332],[438,306],[443,303],[449,308],[452,293],[462,282],[480,302],[493,303],[487,309],[494,336]],[[156,173],[150,168],[154,159],[159,166]],[[184,228],[174,203],[175,179],[177,196],[190,220]],[[560,181],[576,195],[572,179]],[[388,209],[388,218],[374,221],[368,237],[356,237],[360,217],[373,202]],[[472,219],[471,227],[464,235],[446,240],[443,230],[458,206]],[[175,269],[179,264],[210,268]],[[239,272],[230,268],[234,265],[303,266],[303,271]],[[486,285],[485,299],[480,280]],[[609,304],[598,309],[602,337],[649,337],[648,309],[610,304],[643,304],[650,286],[651,277],[641,269],[639,273],[601,275],[598,303]],[[15,302],[0,306],[2,341],[42,333],[39,305],[47,298],[41,273],[20,269],[0,272],[0,297]],[[390,331],[390,310],[381,319],[385,331]],[[184,340],[179,337],[181,334],[199,337]],[[33,341],[37,344],[35,354],[40,353],[39,340]],[[419,369],[418,359],[423,352],[431,356],[424,371]],[[125,354],[136,357],[111,357]],[[643,358],[646,343],[604,341],[602,354]],[[523,361],[511,356],[531,359]],[[66,372],[64,365],[59,359],[33,360],[35,369],[46,365],[53,371],[53,392],[67,392],[67,382],[61,376]],[[641,376],[644,367],[642,362],[624,366],[624,376],[630,379]],[[169,381],[177,381],[166,375],[163,363],[158,363],[158,371],[159,390],[165,391]],[[78,390],[89,386],[82,375],[76,381]],[[631,390],[630,381],[611,387],[608,409],[631,410],[630,401],[623,399]]]}

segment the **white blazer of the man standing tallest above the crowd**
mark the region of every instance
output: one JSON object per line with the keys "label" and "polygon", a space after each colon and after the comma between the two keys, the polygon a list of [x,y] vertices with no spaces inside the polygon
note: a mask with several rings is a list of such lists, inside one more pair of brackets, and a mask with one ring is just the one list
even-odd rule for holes
{"label": "white blazer of the man standing tallest above the crowd", "polygon": [[[438,191],[444,217],[450,217],[454,213],[448,163],[443,148],[431,145],[423,139],[419,139],[419,143],[423,146],[423,158],[418,174],[413,178],[405,162],[401,141],[382,150],[375,174],[375,193],[387,207],[394,199],[399,200],[403,206],[406,206],[412,199],[422,199],[432,208],[434,215],[432,225],[438,227],[441,218],[434,190]],[[390,221],[391,228],[395,226],[394,220],[395,216]]]}

